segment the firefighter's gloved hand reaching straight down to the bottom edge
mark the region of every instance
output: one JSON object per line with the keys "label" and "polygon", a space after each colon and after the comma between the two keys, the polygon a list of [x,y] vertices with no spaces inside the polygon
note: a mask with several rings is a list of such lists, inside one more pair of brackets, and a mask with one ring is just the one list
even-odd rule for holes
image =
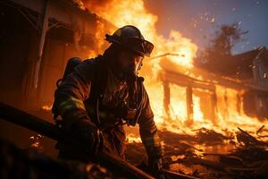
{"label": "firefighter's gloved hand reaching straight down to the bottom edge", "polygon": [[163,175],[163,162],[162,158],[148,158],[148,167],[150,170],[150,173],[155,176],[157,179],[164,179]]}

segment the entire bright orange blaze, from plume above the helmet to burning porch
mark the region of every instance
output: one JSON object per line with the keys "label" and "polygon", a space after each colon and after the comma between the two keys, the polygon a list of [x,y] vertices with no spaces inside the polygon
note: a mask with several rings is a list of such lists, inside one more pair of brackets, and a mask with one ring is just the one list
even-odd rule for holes
{"label": "entire bright orange blaze, from plume above the helmet to burning porch", "polygon": [[[152,56],[165,55],[164,58],[145,59],[145,65],[141,74],[146,77],[145,85],[150,98],[151,107],[155,113],[155,122],[160,129],[166,129],[172,132],[194,133],[193,129],[205,127],[217,132],[235,132],[237,127],[242,127],[248,131],[256,131],[264,122],[259,122],[254,117],[248,117],[237,110],[238,91],[226,89],[219,85],[216,86],[217,110],[216,121],[205,116],[202,103],[205,97],[205,91],[193,91],[193,124],[187,122],[187,103],[186,87],[180,87],[175,84],[170,85],[171,101],[169,106],[169,116],[166,115],[163,107],[163,81],[158,78],[158,72],[161,72],[161,63],[164,60],[165,65],[169,65],[172,71],[182,70],[189,75],[193,67],[193,58],[197,54],[197,45],[191,39],[184,38],[179,31],[171,30],[169,38],[164,38],[158,34],[155,28],[157,16],[149,13],[142,0],[111,0],[96,1],[83,0],[85,7],[101,16],[107,21],[112,22],[116,27],[122,27],[127,24],[137,26],[142,31],[145,38],[155,44]],[[111,33],[114,30],[104,30],[104,26],[99,25],[98,38],[99,43],[104,43],[105,33]],[[102,46],[100,46],[102,47]],[[96,52],[97,53],[97,52]],[[90,54],[96,55],[96,54]],[[182,69],[181,69],[182,68]],[[200,77],[198,77],[200,78]],[[204,95],[200,95],[204,93]],[[209,93],[206,93],[209,94]],[[202,98],[201,98],[202,97]],[[135,136],[129,137],[130,141],[137,141]]]}

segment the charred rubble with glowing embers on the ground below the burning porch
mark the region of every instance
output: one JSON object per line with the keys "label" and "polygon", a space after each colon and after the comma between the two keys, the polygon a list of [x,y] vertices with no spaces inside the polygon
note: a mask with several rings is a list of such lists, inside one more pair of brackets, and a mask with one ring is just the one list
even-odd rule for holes
{"label": "charred rubble with glowing embers on the ground below the burning porch", "polygon": [[[164,143],[165,169],[198,178],[267,178],[266,141],[256,139],[251,132],[241,128],[233,136],[225,136],[205,128],[195,131],[196,135],[159,132]],[[221,148],[226,142],[232,148],[223,153]],[[130,163],[137,165],[138,162],[143,162],[142,159],[146,160],[141,143],[131,142],[127,146],[126,158]],[[206,148],[215,146],[219,146],[219,151],[206,152]]]}

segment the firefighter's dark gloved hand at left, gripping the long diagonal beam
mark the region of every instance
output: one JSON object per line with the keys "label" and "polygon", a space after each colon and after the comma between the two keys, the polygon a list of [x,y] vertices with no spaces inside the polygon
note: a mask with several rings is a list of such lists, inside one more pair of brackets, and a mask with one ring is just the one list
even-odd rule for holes
{"label": "firefighter's dark gloved hand at left, gripping the long diagonal beam", "polygon": [[71,124],[71,132],[74,137],[82,142],[87,149],[95,154],[102,147],[102,133],[96,128],[96,125],[86,119],[78,119]]}

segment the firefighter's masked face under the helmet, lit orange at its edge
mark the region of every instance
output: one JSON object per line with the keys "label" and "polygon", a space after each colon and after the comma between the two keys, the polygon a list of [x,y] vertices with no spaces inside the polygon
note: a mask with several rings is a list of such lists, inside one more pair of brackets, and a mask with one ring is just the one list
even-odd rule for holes
{"label": "firefighter's masked face under the helmet, lit orange at its edge", "polygon": [[143,56],[136,55],[130,51],[122,51],[118,56],[121,69],[130,75],[137,75],[142,65]]}

